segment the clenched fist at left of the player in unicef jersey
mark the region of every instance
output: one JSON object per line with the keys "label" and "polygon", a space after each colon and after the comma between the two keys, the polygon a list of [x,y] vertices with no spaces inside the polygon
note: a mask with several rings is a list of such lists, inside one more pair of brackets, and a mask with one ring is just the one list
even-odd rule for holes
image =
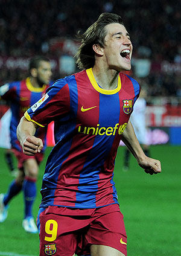
{"label": "clenched fist at left of the player in unicef jersey", "polygon": [[37,152],[40,152],[43,149],[42,139],[29,135],[25,138],[22,144],[22,149],[25,155],[34,156]]}

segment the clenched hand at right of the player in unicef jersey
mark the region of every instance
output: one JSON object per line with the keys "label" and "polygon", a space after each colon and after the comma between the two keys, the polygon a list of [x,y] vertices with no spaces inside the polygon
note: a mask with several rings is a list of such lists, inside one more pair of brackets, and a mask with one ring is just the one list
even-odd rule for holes
{"label": "clenched hand at right of the player in unicef jersey", "polygon": [[138,164],[144,168],[145,173],[149,173],[150,175],[157,174],[162,171],[160,161],[153,158],[148,158],[148,156],[145,156],[144,160],[138,161]]}

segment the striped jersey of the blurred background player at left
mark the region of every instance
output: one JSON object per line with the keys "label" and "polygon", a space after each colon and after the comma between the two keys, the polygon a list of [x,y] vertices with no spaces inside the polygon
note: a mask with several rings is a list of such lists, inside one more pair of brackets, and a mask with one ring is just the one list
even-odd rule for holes
{"label": "striped jersey of the blurred background player at left", "polygon": [[[52,85],[53,82],[50,82]],[[10,139],[11,146],[21,151],[21,146],[16,136],[16,129],[19,121],[24,116],[25,111],[30,108],[37,100],[45,95],[46,89],[49,85],[43,85],[42,88],[34,88],[31,85],[30,77],[26,80],[7,83],[0,88],[0,95],[4,100],[10,101],[10,107],[12,112],[10,123]],[[46,146],[46,130],[38,129],[37,136],[43,139]]]}

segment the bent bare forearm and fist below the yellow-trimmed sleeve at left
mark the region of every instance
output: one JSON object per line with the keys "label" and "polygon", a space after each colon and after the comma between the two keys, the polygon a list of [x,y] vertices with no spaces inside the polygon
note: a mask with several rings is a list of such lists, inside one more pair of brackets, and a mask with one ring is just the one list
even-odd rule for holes
{"label": "bent bare forearm and fist below the yellow-trimmed sleeve at left", "polygon": [[37,125],[22,117],[17,126],[17,139],[19,140],[25,155],[33,156],[43,148],[42,139],[36,138]]}

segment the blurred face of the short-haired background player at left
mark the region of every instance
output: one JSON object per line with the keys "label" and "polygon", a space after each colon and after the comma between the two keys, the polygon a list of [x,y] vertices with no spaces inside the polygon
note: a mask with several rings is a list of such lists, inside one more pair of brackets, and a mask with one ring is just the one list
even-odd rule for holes
{"label": "blurred face of the short-haired background player at left", "polygon": [[51,75],[50,63],[44,60],[40,61],[39,67],[37,68],[37,80],[42,84],[48,85]]}

